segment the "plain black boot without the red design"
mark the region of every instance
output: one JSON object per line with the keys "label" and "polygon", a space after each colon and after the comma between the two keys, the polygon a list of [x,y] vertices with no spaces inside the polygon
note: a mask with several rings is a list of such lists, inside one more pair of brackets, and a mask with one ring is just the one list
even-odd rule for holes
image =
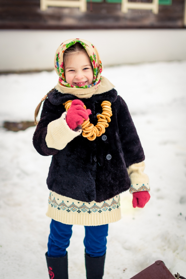
{"label": "plain black boot without the red design", "polygon": [[102,279],[104,274],[106,253],[99,258],[92,258],[85,253],[85,267],[87,279]]}

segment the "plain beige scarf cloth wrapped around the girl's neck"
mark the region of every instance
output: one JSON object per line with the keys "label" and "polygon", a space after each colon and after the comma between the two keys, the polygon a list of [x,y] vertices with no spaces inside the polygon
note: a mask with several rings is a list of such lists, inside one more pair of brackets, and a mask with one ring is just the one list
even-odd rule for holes
{"label": "plain beige scarf cloth wrapped around the girl's neck", "polygon": [[55,88],[61,93],[72,94],[78,98],[90,98],[92,97],[92,95],[105,93],[115,87],[104,76],[102,76],[101,78],[102,79],[99,84],[89,88],[71,88],[62,86],[59,83],[57,83]]}

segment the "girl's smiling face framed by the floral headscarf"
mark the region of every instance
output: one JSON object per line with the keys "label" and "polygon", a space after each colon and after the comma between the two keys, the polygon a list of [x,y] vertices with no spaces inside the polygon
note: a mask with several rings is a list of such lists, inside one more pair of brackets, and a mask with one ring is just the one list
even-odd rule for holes
{"label": "girl's smiling face framed by the floral headscarf", "polygon": [[65,65],[66,82],[74,86],[91,85],[93,68],[85,53],[67,54]]}

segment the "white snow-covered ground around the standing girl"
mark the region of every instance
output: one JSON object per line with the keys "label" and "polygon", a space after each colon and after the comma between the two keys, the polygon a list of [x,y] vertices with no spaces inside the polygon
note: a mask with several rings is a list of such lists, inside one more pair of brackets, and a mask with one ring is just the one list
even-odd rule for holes
{"label": "white snow-covered ground around the standing girl", "polygon": [[[186,62],[105,68],[125,99],[146,155],[151,199],[132,208],[121,195],[122,219],[109,225],[104,279],[129,279],[156,260],[186,277]],[[0,121],[32,120],[57,83],[53,71],[0,76]],[[51,157],[32,146],[34,127],[0,129],[0,265],[4,279],[46,279],[50,219],[45,216]],[[85,279],[84,227],[73,226],[69,279]]]}

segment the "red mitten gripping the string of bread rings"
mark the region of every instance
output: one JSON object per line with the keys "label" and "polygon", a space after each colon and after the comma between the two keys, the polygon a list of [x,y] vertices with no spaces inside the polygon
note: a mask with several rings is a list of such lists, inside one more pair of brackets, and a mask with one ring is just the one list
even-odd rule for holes
{"label": "red mitten gripping the string of bread rings", "polygon": [[84,104],[80,100],[73,100],[70,108],[67,111],[66,122],[72,130],[76,129],[78,125],[81,125],[84,120],[88,120],[90,109],[84,109]]}

